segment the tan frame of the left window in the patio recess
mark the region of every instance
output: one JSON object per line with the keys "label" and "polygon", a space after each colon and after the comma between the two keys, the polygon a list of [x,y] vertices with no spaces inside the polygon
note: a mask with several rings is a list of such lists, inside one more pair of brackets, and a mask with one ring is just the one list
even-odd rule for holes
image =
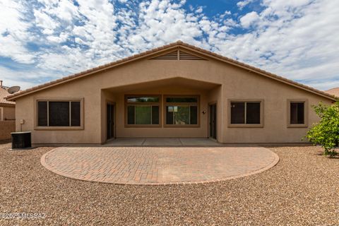
{"label": "tan frame of the left window in the patio recess", "polygon": [[[129,97],[158,97],[159,102],[133,102],[129,103],[127,102]],[[162,112],[161,112],[161,105],[162,105],[162,98],[161,95],[125,95],[124,97],[124,124],[125,128],[159,128],[162,126]],[[128,111],[127,107],[128,106],[151,106],[151,112],[152,112],[152,106],[158,106],[159,107],[159,124],[128,124]],[[135,116],[134,116],[135,117]],[[152,117],[151,117],[152,119]],[[152,123],[152,121],[151,121]]]}

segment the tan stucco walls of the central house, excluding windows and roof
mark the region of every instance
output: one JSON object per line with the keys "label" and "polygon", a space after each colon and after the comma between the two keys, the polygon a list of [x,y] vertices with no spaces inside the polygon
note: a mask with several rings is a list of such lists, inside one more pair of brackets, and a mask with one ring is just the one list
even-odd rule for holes
{"label": "tan stucco walls of the central house, excluding windows and roof", "polygon": [[[172,47],[173,49],[183,47]],[[319,118],[311,105],[333,98],[278,81],[239,66],[219,61],[207,54],[184,49],[204,60],[137,59],[90,76],[53,85],[16,100],[16,131],[32,131],[32,143],[105,143],[106,106],[114,104],[114,136],[120,137],[201,137],[209,136],[208,103],[217,104],[217,140],[220,143],[299,143],[309,126]],[[165,52],[157,52],[161,55]],[[197,127],[129,128],[125,125],[125,95],[198,95],[200,124]],[[83,129],[37,129],[36,100],[41,98],[83,98]],[[230,100],[262,100],[263,126],[232,127]],[[290,128],[288,100],[307,100],[307,126]],[[163,108],[163,102],[162,106]],[[164,121],[163,114],[160,120]],[[24,124],[20,124],[20,120]],[[22,120],[21,120],[22,121]]]}

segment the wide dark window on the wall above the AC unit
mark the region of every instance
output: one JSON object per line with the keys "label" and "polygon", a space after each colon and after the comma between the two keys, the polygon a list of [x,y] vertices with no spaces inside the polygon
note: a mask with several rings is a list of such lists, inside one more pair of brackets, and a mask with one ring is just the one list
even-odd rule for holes
{"label": "wide dark window on the wall above the AC unit", "polygon": [[37,128],[81,127],[82,100],[37,100]]}

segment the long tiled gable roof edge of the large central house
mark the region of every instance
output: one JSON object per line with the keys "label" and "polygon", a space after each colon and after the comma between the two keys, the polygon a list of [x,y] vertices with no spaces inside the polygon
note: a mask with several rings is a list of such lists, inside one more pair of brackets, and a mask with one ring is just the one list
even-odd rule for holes
{"label": "long tiled gable roof edge of the large central house", "polygon": [[158,54],[160,52],[164,52],[166,50],[170,50],[170,49],[175,49],[175,48],[181,48],[181,49],[188,49],[190,50],[191,52],[196,52],[198,54],[201,54],[201,55],[204,55],[206,57],[210,57],[210,58],[213,58],[213,59],[217,59],[219,61],[223,61],[227,64],[232,64],[234,66],[238,66],[242,69],[246,69],[247,71],[252,71],[254,73],[258,73],[260,74],[261,76],[266,76],[268,78],[272,78],[276,81],[280,81],[280,82],[283,82],[285,84],[288,84],[288,85],[292,85],[292,86],[295,86],[296,88],[300,88],[302,90],[307,90],[308,92],[311,92],[311,93],[314,93],[316,95],[321,95],[322,97],[326,97],[330,100],[335,100],[335,97],[333,95],[330,95],[328,93],[325,93],[321,90],[316,90],[315,88],[311,88],[307,85],[303,85],[301,83],[297,83],[295,81],[291,81],[287,78],[283,78],[281,76],[277,76],[273,73],[270,73],[268,71],[263,71],[261,69],[258,69],[254,66],[249,66],[248,64],[244,64],[244,63],[241,63],[239,61],[236,61],[234,59],[230,59],[230,58],[227,58],[227,57],[223,57],[219,54],[215,54],[213,52],[210,52],[208,50],[205,50],[205,49],[201,49],[201,48],[198,48],[198,47],[194,47],[193,45],[191,44],[186,44],[184,42],[181,42],[181,41],[178,41],[178,42],[174,42],[172,44],[167,44],[167,45],[164,45],[162,47],[157,47],[155,49],[151,49],[151,50],[148,50],[146,52],[143,52],[141,54],[135,54],[131,57],[126,57],[124,59],[119,59],[117,61],[114,61],[112,63],[109,63],[109,64],[105,64],[105,65],[102,65],[102,66],[97,66],[93,69],[89,69],[87,71],[82,71],[80,73],[76,73],[76,74],[73,74],[71,76],[66,76],[64,78],[60,78],[56,81],[51,81],[49,83],[44,83],[42,85],[37,85],[33,88],[28,88],[27,90],[22,90],[22,91],[19,91],[18,93],[14,93],[12,95],[8,95],[8,97],[6,97],[7,100],[16,100],[17,98],[19,97],[23,97],[24,95],[28,95],[30,93],[35,93],[37,91],[40,91],[40,90],[44,90],[44,89],[47,89],[49,87],[52,87],[54,85],[59,85],[61,83],[66,83],[66,82],[69,82],[69,81],[73,81],[74,79],[77,79],[77,78],[82,78],[84,76],[90,76],[94,73],[97,73],[97,72],[100,72],[100,71],[104,71],[104,70],[107,70],[107,69],[112,69],[114,66],[120,66],[121,64],[126,64],[126,63],[129,63],[131,61],[136,61],[138,59],[143,59],[143,58],[146,58],[146,57],[150,57],[154,54]]}

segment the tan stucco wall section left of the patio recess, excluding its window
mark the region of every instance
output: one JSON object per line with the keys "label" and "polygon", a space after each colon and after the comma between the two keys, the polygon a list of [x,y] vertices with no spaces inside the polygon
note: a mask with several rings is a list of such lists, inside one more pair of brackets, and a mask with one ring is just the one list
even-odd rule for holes
{"label": "tan stucco wall section left of the patio recess, excluding its window", "polygon": [[[32,143],[101,143],[101,95],[98,81],[83,78],[78,81],[43,90],[35,95],[16,100],[16,131],[20,131],[20,119],[25,120],[22,131],[32,131]],[[35,99],[59,97],[84,98],[83,130],[35,130]]]}

